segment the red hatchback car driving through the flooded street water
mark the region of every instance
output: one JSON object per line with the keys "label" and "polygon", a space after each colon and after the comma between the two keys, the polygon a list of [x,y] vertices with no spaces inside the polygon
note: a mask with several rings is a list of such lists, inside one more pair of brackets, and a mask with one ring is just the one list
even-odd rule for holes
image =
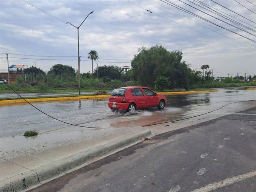
{"label": "red hatchback car driving through the flooded street water", "polygon": [[154,93],[148,87],[121,87],[114,89],[108,99],[108,107],[134,111],[137,108],[158,107],[163,109],[167,100],[164,95]]}

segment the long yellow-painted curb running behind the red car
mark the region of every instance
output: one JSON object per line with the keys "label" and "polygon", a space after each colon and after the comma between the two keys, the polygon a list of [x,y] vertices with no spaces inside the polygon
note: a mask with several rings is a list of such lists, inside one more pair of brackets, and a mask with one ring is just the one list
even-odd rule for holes
{"label": "long yellow-painted curb running behind the red car", "polygon": [[[159,92],[158,94],[163,95],[184,95],[192,93],[208,93],[217,92],[218,90],[195,90],[195,91],[175,91],[175,92]],[[37,99],[26,99],[28,102],[46,102],[46,101],[60,101],[60,100],[75,100],[75,99],[107,99],[110,95],[90,95],[90,96],[77,96],[77,97],[51,97],[51,98],[37,98]],[[2,100],[0,104],[15,104],[15,103],[26,103],[23,99],[13,99],[13,100]]]}

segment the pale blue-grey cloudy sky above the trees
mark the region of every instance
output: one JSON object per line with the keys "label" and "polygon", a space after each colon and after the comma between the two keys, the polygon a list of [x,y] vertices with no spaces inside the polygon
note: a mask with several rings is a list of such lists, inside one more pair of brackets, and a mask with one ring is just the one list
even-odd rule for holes
{"label": "pale blue-grey cloudy sky above the trees", "polygon": [[[256,74],[256,0],[168,1],[0,0],[0,71],[7,71],[5,53],[9,65],[49,71],[54,64],[64,64],[77,70],[77,29],[66,22],[79,26],[94,11],[79,28],[81,73],[92,71],[90,50],[99,54],[94,68],[96,63],[122,67],[130,66],[142,46],[159,44],[168,51],[182,51],[193,69],[210,65],[215,77]],[[199,2],[239,24],[199,7]]]}

